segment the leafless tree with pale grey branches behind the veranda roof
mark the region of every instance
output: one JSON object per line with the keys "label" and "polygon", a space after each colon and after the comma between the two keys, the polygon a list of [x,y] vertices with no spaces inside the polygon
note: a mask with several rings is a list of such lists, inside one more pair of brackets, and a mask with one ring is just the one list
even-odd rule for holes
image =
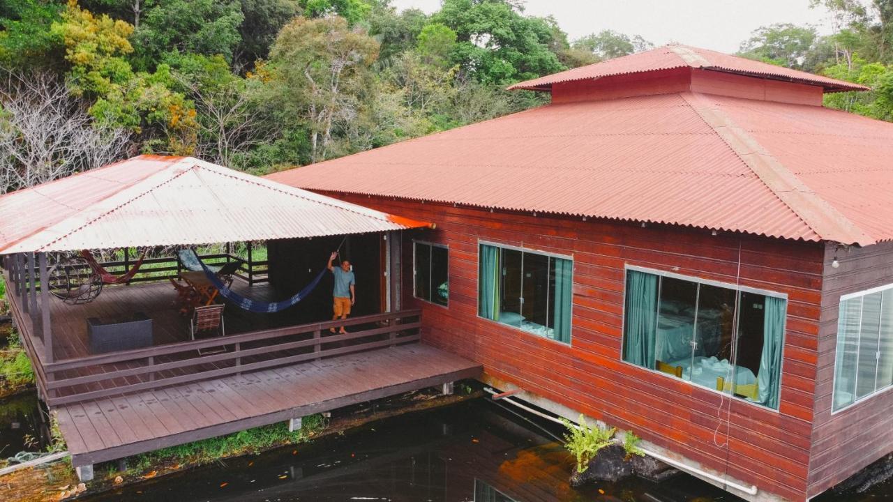
{"label": "leafless tree with pale grey branches behind the veranda roof", "polygon": [[128,133],[95,126],[54,76],[4,71],[0,83],[0,194],[111,163]]}

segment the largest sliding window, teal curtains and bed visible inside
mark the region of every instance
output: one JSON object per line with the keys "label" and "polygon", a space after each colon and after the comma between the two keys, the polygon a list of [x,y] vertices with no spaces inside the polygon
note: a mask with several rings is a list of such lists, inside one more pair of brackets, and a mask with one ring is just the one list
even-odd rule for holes
{"label": "largest sliding window, teal curtains and bed visible inside", "polygon": [[787,301],[628,270],[623,360],[777,409]]}

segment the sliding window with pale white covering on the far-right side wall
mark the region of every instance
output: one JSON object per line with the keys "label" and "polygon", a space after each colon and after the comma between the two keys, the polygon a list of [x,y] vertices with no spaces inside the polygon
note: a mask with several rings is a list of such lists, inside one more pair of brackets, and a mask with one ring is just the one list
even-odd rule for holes
{"label": "sliding window with pale white covering on the far-right side wall", "polygon": [[834,411],[893,385],[893,284],[840,298]]}

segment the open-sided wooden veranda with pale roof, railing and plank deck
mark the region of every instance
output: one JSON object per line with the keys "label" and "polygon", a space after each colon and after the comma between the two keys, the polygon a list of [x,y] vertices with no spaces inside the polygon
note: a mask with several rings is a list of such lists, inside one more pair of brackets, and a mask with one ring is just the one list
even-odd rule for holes
{"label": "open-sided wooden veranda with pale roof, railing and plank deck", "polygon": [[[0,197],[0,255],[13,319],[35,363],[38,392],[58,414],[76,466],[297,418],[320,408],[313,396],[343,406],[480,372],[413,343],[421,338],[421,314],[400,310],[400,234],[425,226],[191,157],[141,155]],[[370,285],[374,298],[364,312],[332,322],[329,309],[308,312],[300,302],[305,297],[293,295],[324,270],[331,248],[348,241],[374,243],[370,261],[380,270],[373,276],[384,279]],[[238,246],[243,252],[234,251],[235,243],[246,243]],[[287,280],[268,281],[266,258],[255,259],[257,243],[269,246],[280,268],[296,264]],[[193,314],[177,304],[178,289],[191,286],[188,274],[193,280],[203,274],[188,272],[182,249],[196,250],[209,267],[235,264],[230,287],[212,285],[196,304],[224,306],[218,336],[193,339]],[[302,249],[326,253],[305,256]],[[73,276],[96,280],[96,266],[65,262],[83,250],[111,256],[97,264],[100,272],[126,280],[85,295],[88,301],[54,296],[61,263],[86,270]],[[323,280],[306,297],[330,291]],[[255,312],[224,298],[226,292],[250,298]],[[306,305],[321,305],[317,300]],[[282,301],[285,307],[270,304]],[[124,324],[111,331],[111,347],[118,348],[97,345],[97,323]],[[330,333],[342,325],[347,334]],[[405,372],[401,357],[413,359],[405,361]],[[347,374],[376,364],[388,367],[371,381],[359,384]],[[299,378],[305,372],[314,375],[307,388]],[[244,386],[252,381],[281,378],[300,391],[282,396],[271,388],[266,400],[246,399]],[[338,378],[346,379],[340,389],[319,388],[319,379]],[[215,420],[188,418],[208,406],[217,409]]]}

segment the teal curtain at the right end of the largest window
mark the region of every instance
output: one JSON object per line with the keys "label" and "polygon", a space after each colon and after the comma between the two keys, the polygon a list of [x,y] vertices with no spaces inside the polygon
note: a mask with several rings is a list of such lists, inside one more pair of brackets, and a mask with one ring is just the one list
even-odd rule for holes
{"label": "teal curtain at the right end of the largest window", "polygon": [[763,355],[756,375],[759,400],[773,409],[779,407],[781,384],[781,348],[784,340],[784,318],[788,302],[781,298],[765,297],[763,320]]}

